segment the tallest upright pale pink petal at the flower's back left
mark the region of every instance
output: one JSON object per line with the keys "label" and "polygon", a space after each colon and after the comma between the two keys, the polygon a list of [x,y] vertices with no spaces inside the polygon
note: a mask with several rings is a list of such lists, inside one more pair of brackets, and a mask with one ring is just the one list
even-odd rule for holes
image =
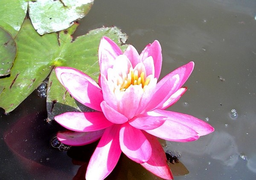
{"label": "tallest upright pale pink petal at the flower's back left", "polygon": [[99,67],[101,74],[107,76],[108,68],[112,68],[117,56],[122,54],[121,49],[108,37],[102,37],[99,44]]}

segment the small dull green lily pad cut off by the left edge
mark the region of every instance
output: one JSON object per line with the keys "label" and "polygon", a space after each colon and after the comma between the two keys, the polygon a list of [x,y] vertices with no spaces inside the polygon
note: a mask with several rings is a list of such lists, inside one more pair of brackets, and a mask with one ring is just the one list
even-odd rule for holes
{"label": "small dull green lily pad cut off by the left edge", "polygon": [[10,74],[17,47],[12,35],[0,27],[0,76]]}

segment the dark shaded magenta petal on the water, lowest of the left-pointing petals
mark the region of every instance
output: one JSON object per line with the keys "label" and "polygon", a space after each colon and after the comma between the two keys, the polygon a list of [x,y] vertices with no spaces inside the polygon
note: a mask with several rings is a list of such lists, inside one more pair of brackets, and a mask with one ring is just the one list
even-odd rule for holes
{"label": "dark shaded magenta petal on the water, lowest of the left-pointing petals", "polygon": [[58,140],[69,146],[83,146],[86,144],[93,143],[102,137],[105,129],[91,132],[72,132],[62,131],[58,132]]}

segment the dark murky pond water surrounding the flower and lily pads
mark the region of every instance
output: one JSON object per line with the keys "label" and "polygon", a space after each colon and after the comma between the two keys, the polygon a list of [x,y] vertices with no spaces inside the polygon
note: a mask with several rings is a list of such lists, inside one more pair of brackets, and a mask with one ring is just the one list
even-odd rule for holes
{"label": "dark murky pond water surrounding the flower and lily pads", "polygon": [[[121,28],[138,51],[159,40],[161,77],[195,62],[187,92],[169,110],[201,118],[215,132],[194,142],[163,143],[179,155],[180,163],[171,165],[175,180],[254,180],[256,1],[96,0],[75,35],[102,25]],[[45,98],[36,91],[12,113],[0,110],[0,179],[72,179],[78,170],[74,179],[83,177],[83,163],[72,158],[90,150],[73,149],[70,158],[52,148],[49,141],[60,127],[46,118]],[[122,158],[108,179],[155,177]]]}

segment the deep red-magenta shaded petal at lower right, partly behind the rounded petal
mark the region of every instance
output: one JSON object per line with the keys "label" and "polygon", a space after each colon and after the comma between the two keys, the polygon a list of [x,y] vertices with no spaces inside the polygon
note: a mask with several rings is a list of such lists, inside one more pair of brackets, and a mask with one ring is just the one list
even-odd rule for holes
{"label": "deep red-magenta shaded petal at lower right, partly behind the rounded petal", "polygon": [[150,159],[146,163],[142,163],[141,166],[165,180],[172,180],[172,172],[166,163],[167,159],[163,147],[156,137],[146,132],[144,132],[144,135],[151,144],[152,154]]}

